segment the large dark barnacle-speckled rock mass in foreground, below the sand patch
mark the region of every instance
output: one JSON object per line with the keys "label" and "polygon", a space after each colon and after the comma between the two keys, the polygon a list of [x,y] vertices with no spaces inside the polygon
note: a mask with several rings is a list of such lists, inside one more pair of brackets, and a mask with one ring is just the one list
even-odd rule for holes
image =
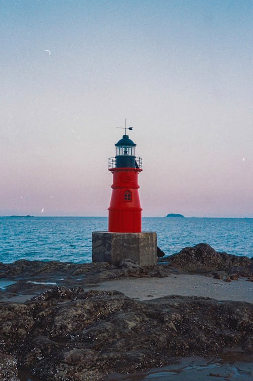
{"label": "large dark barnacle-speckled rock mass in foreground, below the sand patch", "polygon": [[225,347],[253,354],[253,305],[246,302],[137,301],[117,291],[53,287],[0,307],[0,351],[44,381],[95,381]]}

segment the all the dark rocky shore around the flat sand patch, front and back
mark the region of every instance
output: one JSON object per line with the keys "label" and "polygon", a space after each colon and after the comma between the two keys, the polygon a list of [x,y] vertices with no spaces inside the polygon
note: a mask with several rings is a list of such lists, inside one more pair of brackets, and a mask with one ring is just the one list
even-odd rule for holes
{"label": "all the dark rocky shore around the flat sand patch, front and back", "polygon": [[[253,304],[206,296],[137,300],[99,291],[114,279],[205,274],[253,280],[253,260],[207,244],[162,258],[154,268],[108,263],[0,263],[0,379],[26,369],[43,381],[92,381],[144,371],[181,356],[221,355],[236,348],[253,361]],[[15,282],[15,283],[14,283]],[[33,283],[35,282],[35,283]],[[91,288],[98,290],[91,290]]]}

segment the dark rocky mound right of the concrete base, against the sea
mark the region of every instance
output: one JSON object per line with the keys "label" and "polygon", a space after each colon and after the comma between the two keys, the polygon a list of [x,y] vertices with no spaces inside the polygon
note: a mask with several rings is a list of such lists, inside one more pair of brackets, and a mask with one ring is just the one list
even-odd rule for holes
{"label": "dark rocky mound right of the concrete base, against the sea", "polygon": [[200,243],[193,247],[185,247],[177,254],[164,258],[171,268],[188,273],[208,273],[224,271],[226,274],[251,276],[253,260],[244,256],[231,255],[215,251],[210,245]]}

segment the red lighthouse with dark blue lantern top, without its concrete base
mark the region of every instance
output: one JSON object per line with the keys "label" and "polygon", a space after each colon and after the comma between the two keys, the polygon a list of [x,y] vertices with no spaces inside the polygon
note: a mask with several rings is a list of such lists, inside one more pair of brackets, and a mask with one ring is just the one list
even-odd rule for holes
{"label": "red lighthouse with dark blue lantern top, without its concrete base", "polygon": [[[130,128],[132,129],[132,128]],[[109,171],[113,174],[108,231],[115,233],[141,233],[141,203],[138,175],[142,159],[136,158],[136,144],[123,135],[116,144],[116,156],[109,158]]]}

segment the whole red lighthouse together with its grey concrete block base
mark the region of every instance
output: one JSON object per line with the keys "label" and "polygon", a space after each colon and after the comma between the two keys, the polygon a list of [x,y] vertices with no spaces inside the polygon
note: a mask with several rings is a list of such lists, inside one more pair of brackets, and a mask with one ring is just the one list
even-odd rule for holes
{"label": "whole red lighthouse together with its grey concrete block base", "polygon": [[142,159],[135,156],[136,144],[126,135],[126,126],[125,134],[115,147],[115,157],[109,158],[113,181],[108,232],[92,233],[92,260],[118,265],[122,260],[131,259],[141,266],[153,266],[157,264],[156,233],[142,232],[138,191]]}

